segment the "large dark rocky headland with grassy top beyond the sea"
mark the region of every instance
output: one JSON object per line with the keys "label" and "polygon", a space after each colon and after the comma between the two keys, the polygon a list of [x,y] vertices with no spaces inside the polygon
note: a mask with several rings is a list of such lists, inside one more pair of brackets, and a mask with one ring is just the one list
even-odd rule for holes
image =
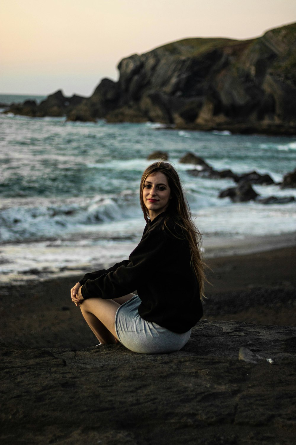
{"label": "large dark rocky headland with grassy top beyond the sea", "polygon": [[70,121],[153,121],[168,128],[292,135],[295,46],[296,23],[251,40],[184,39],[122,59],[118,82],[103,79],[91,97],[51,95],[47,101],[59,96],[59,111],[45,111],[47,101],[27,101],[8,111],[65,114]]}

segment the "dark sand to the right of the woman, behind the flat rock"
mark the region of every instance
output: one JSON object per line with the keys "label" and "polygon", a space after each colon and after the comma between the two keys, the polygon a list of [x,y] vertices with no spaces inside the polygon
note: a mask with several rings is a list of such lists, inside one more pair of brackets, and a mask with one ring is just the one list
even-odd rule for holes
{"label": "dark sand to the right of the woman, behind the flat rock", "polygon": [[296,325],[296,247],[208,259],[204,318]]}

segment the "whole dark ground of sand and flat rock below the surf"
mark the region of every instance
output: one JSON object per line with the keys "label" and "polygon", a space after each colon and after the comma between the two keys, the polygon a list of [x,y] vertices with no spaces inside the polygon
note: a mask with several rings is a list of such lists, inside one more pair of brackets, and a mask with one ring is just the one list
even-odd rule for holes
{"label": "whole dark ground of sand and flat rock below the surf", "polygon": [[204,317],[166,355],[95,347],[75,276],[2,286],[1,443],[293,443],[296,248],[208,264]]}

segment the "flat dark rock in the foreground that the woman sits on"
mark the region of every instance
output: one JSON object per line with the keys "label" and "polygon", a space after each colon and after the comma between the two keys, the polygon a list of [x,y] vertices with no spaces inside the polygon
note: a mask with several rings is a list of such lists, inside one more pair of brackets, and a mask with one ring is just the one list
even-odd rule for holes
{"label": "flat dark rock in the foreground that the woman sits on", "polygon": [[295,443],[295,344],[293,327],[202,320],[172,354],[2,345],[1,443]]}

